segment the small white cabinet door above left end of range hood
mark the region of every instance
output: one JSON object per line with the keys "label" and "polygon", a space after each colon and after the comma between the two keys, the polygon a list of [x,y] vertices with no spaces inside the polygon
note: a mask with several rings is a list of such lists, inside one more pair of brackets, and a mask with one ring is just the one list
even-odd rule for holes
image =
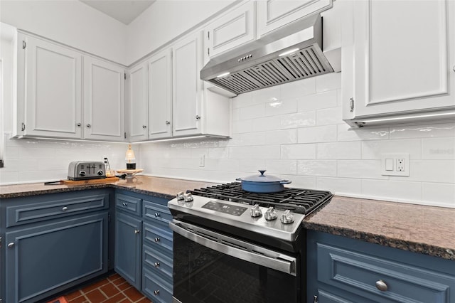
{"label": "small white cabinet door above left end of range hood", "polygon": [[208,55],[213,57],[255,40],[255,21],[255,1],[248,1],[228,14],[216,18],[205,30]]}

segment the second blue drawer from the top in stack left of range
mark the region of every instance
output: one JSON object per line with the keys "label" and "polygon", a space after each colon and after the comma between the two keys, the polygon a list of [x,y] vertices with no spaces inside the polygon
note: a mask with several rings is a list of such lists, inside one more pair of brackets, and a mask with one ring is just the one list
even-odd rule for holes
{"label": "second blue drawer from the top in stack left of range", "polygon": [[173,234],[166,225],[159,223],[149,224],[144,222],[144,245],[152,249],[160,249],[162,252],[172,253]]}

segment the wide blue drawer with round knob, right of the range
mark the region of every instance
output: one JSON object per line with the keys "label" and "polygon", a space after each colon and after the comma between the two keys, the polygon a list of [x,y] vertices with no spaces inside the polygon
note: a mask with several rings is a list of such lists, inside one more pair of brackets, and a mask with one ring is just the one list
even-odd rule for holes
{"label": "wide blue drawer with round knob, right of the range", "polygon": [[455,277],[423,267],[323,243],[317,255],[319,282],[378,302],[451,302],[455,289]]}

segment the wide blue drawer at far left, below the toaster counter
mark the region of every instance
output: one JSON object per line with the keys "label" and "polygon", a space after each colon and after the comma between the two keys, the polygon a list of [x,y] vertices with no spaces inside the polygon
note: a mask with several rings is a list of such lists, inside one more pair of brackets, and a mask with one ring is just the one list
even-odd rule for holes
{"label": "wide blue drawer at far left, below the toaster counter", "polygon": [[[69,198],[71,197],[71,198]],[[45,200],[43,200],[45,198]],[[28,198],[19,206],[6,207],[6,227],[50,220],[63,216],[99,211],[109,207],[109,194],[76,196],[45,195],[38,198]],[[42,201],[43,200],[43,201]]]}

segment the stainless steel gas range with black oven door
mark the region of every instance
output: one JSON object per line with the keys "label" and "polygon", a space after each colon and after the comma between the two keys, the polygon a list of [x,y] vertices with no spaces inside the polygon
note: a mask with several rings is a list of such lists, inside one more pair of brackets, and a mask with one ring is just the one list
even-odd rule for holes
{"label": "stainless steel gas range with black oven door", "polygon": [[173,302],[304,302],[302,220],[329,191],[250,193],[240,183],[179,193],[173,215]]}

